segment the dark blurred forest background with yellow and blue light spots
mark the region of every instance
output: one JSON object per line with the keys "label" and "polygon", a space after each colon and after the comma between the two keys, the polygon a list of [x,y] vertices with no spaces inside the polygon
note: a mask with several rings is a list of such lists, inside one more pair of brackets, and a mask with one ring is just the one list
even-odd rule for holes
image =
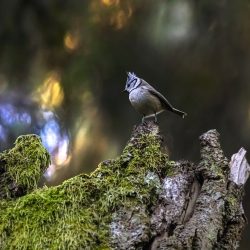
{"label": "dark blurred forest background with yellow and blue light spots", "polygon": [[227,157],[250,152],[249,1],[0,4],[0,149],[39,134],[52,155],[47,185],[119,155],[141,121],[122,93],[126,71],[188,113],[159,116],[171,159],[198,161],[198,137],[213,128]]}

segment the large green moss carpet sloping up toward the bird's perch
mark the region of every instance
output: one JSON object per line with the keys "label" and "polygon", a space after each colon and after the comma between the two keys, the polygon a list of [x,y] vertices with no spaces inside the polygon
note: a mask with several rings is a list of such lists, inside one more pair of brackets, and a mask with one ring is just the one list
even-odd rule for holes
{"label": "large green moss carpet sloping up toward the bird's perch", "polygon": [[160,148],[156,135],[142,133],[91,175],[0,204],[0,248],[109,249],[112,213],[141,203],[150,208],[160,186],[154,176],[172,171]]}

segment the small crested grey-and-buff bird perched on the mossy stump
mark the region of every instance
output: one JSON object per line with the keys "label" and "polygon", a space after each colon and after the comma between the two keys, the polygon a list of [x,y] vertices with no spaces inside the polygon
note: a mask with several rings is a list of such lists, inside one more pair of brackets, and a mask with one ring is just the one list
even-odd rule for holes
{"label": "small crested grey-and-buff bird perched on the mossy stump", "polygon": [[145,118],[153,116],[157,123],[157,115],[164,110],[171,111],[182,118],[187,115],[186,112],[174,108],[160,92],[135,73],[127,72],[124,91],[129,93],[129,100],[134,109],[142,114],[142,123],[145,122]]}

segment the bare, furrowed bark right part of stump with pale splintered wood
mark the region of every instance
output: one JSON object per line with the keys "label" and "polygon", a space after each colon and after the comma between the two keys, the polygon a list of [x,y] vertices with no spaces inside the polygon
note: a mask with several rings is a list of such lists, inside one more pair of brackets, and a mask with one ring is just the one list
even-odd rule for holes
{"label": "bare, furrowed bark right part of stump with pale splintered wood", "polygon": [[[200,136],[201,161],[177,165],[178,174],[163,179],[162,201],[152,217],[156,228],[165,228],[151,249],[236,249],[246,219],[243,187],[249,166],[244,149],[229,163],[210,130]],[[173,185],[174,184],[174,185]]]}

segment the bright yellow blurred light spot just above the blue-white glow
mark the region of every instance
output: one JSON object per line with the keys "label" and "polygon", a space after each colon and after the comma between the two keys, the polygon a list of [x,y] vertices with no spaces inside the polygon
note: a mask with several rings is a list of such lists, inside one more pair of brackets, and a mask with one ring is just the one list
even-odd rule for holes
{"label": "bright yellow blurred light spot just above the blue-white glow", "polygon": [[64,99],[64,92],[59,75],[55,72],[49,74],[42,86],[38,88],[35,96],[42,108],[52,109],[60,106]]}

